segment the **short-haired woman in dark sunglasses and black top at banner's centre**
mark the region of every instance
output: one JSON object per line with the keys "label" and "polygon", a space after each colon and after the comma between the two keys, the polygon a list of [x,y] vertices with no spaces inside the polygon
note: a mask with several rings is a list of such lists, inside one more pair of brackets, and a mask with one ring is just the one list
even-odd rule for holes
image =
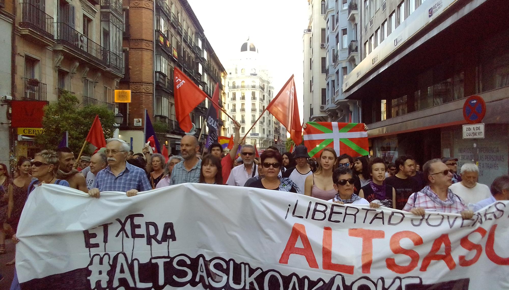
{"label": "short-haired woman in dark sunglasses and black top at banner's centre", "polygon": [[252,182],[248,185],[249,187],[298,193],[299,189],[292,179],[288,177],[278,178],[283,163],[283,158],[279,152],[265,151],[260,159],[262,161],[260,165],[262,166],[263,177]]}

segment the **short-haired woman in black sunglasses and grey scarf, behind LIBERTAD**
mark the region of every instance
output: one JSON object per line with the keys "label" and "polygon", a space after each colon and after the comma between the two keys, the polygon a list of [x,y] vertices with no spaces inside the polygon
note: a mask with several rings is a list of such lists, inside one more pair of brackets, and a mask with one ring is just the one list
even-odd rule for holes
{"label": "short-haired woman in black sunglasses and grey scarf, behind LIBERTAD", "polygon": [[370,204],[354,193],[355,180],[353,179],[352,169],[346,166],[338,167],[332,173],[332,180],[337,194],[329,201],[340,204]]}

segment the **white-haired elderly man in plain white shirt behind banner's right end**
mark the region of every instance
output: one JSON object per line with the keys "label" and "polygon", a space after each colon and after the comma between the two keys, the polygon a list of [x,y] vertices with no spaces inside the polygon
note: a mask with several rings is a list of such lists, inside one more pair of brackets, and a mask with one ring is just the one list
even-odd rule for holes
{"label": "white-haired elderly man in plain white shirt behind banner's right end", "polygon": [[490,188],[487,185],[477,183],[479,168],[473,163],[466,163],[461,166],[460,175],[462,181],[449,187],[454,194],[461,197],[469,209],[475,204],[491,196]]}

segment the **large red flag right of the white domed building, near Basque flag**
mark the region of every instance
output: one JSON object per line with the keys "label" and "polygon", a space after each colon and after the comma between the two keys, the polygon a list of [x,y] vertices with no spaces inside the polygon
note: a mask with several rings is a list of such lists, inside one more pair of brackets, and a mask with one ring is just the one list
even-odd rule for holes
{"label": "large red flag right of the white domed building, near Basque flag", "polygon": [[293,75],[269,103],[267,111],[287,128],[295,144],[302,143],[302,124]]}

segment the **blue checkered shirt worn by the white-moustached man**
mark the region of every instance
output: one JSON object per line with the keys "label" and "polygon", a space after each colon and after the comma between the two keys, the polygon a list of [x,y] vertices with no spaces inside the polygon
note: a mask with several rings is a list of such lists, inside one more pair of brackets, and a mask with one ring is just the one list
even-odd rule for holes
{"label": "blue checkered shirt worn by the white-moustached man", "polygon": [[126,162],[126,169],[120,172],[118,176],[111,172],[109,165],[97,172],[93,188],[98,188],[100,192],[128,192],[131,189],[148,191],[152,189],[152,186],[149,183],[149,179],[147,179],[145,170]]}

